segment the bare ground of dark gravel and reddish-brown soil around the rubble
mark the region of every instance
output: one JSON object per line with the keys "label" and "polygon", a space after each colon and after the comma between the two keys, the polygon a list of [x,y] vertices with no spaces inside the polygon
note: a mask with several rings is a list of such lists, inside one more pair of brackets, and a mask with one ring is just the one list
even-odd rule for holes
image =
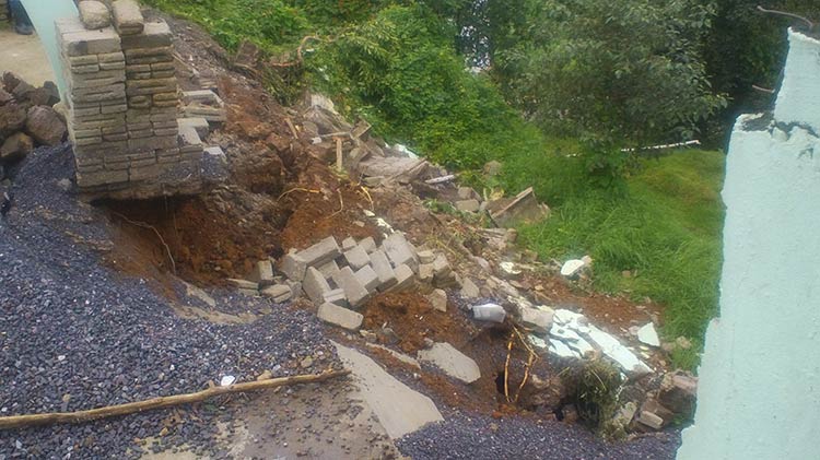
{"label": "bare ground of dark gravel and reddish-brown soil around the rubble", "polygon": [[[551,413],[524,410],[526,397],[519,406],[502,404],[496,377],[511,331],[472,322],[454,292],[446,314],[431,310],[421,293],[376,297],[364,309],[365,328],[389,325],[396,338],[379,342],[411,354],[425,339],[450,342],[479,363],[482,378],[472,386],[399,364],[359,337],[324,327],[306,303],[276,305],[227,288],[225,279],[247,275],[255,261],[327,235],[378,239],[365,209],[419,244],[448,247],[456,263],[483,252],[485,240],[450,216],[431,214],[409,190],[368,193],[333,174],[308,140],[294,138],[286,120],[298,127],[296,111],[276,104],[253,80],[224,70],[219,47],[197,27],[172,25],[186,62],[180,74],[190,75],[181,85],[213,75],[229,104],[229,122],[209,141],[225,150],[232,177],[200,197],[91,205],[72,189],[70,148],[40,149],[20,165],[15,205],[0,222],[2,415],[197,391],[223,375],[253,380],[266,370],[318,373],[340,366],[327,340],[333,338],[431,397],[445,422],[399,440],[396,450],[356,391],[340,380],[82,425],[0,432],[0,456],[673,458],[673,430],[610,445]],[[185,73],[191,64],[199,76]],[[183,281],[203,288],[215,305]],[[578,292],[550,273],[528,274],[519,283],[540,286],[544,302],[582,309],[612,332],[660,316],[651,304]],[[526,356],[515,353],[509,371],[520,381]],[[304,366],[307,356],[313,364]]]}

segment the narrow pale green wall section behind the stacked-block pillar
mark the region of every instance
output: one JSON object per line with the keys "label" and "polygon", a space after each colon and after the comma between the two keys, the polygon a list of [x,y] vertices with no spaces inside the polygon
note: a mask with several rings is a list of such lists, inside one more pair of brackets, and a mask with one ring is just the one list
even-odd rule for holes
{"label": "narrow pale green wall section behind the stacked-block pillar", "polygon": [[62,73],[62,62],[54,22],[60,17],[79,15],[77,5],[74,5],[73,0],[22,0],[22,2],[39,39],[43,42],[43,47],[46,49],[48,61],[51,63],[57,79],[55,83],[60,89],[60,94],[66,94],[66,79]]}

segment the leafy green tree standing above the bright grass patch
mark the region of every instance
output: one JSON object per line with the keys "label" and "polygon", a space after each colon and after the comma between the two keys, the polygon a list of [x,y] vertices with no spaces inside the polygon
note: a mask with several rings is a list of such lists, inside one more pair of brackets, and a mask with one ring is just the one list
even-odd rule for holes
{"label": "leafy green tree standing above the bright grass patch", "polygon": [[700,55],[710,5],[527,0],[517,14],[524,27],[507,31],[517,38],[490,38],[493,71],[527,117],[587,140],[594,172],[620,169],[616,148],[690,139],[724,104]]}

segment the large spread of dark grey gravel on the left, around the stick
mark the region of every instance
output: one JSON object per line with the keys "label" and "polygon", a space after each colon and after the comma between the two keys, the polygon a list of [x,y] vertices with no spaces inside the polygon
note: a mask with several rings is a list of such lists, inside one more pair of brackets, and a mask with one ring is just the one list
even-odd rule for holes
{"label": "large spread of dark grey gravel on the left, around the stick", "polygon": [[[272,315],[249,325],[184,320],[145,281],[101,264],[110,228],[99,210],[65,190],[72,162],[66,146],[30,155],[15,178],[15,205],[0,222],[0,415],[192,392],[224,374],[239,381],[266,369],[297,374],[294,363],[307,355],[325,357],[313,369],[336,363],[309,312],[278,315],[284,307],[271,304]],[[188,444],[224,456],[214,422],[231,409],[220,402],[0,432],[0,459],[138,457],[134,438],[157,436],[172,414],[180,423],[168,426],[165,448]]]}

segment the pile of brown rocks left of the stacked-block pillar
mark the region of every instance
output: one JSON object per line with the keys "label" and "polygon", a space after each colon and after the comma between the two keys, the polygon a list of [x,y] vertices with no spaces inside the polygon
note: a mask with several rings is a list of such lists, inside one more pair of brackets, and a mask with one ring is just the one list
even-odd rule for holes
{"label": "pile of brown rocks left of the stacked-block pillar", "polygon": [[38,145],[57,145],[66,139],[66,121],[52,108],[59,101],[57,86],[51,82],[34,87],[12,72],[3,74],[0,166],[23,158]]}

